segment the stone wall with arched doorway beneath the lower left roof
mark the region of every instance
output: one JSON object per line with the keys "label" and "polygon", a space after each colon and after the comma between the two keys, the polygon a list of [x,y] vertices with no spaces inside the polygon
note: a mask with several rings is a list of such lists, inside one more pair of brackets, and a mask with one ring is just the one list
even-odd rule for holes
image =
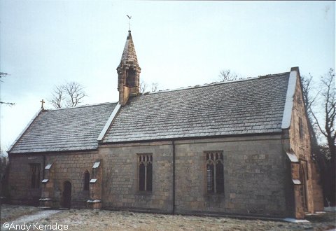
{"label": "stone wall with arched doorway beneath the lower left roof", "polygon": [[[44,156],[44,157],[43,157]],[[97,152],[45,153],[43,155],[10,155],[10,201],[15,204],[39,204],[43,189],[48,184],[50,193],[46,195],[52,200],[52,207],[62,207],[64,181],[71,183],[71,207],[86,207],[90,199],[89,191],[84,189],[84,173],[92,174],[92,165],[97,160]],[[44,160],[43,160],[44,159]],[[40,183],[39,188],[31,188],[31,164],[40,164],[40,181],[43,169],[52,164],[48,183]],[[44,170],[46,172],[47,170]],[[46,174],[45,174],[46,175]],[[99,179],[101,181],[101,179]]]}

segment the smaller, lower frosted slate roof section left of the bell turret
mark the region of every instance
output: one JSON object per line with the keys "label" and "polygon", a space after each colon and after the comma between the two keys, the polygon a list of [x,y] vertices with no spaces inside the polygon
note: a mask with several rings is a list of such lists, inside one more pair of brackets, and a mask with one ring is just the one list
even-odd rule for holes
{"label": "smaller, lower frosted slate roof section left of the bell turret", "polygon": [[109,103],[43,110],[10,149],[10,153],[97,149],[97,137],[116,105]]}

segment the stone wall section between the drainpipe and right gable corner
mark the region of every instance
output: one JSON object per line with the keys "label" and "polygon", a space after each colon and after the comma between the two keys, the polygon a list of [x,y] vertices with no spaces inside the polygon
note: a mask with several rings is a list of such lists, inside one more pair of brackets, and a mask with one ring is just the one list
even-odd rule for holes
{"label": "stone wall section between the drainpipe and right gable corner", "polygon": [[[208,194],[204,151],[223,151],[224,194]],[[280,136],[176,141],[176,212],[286,216]]]}

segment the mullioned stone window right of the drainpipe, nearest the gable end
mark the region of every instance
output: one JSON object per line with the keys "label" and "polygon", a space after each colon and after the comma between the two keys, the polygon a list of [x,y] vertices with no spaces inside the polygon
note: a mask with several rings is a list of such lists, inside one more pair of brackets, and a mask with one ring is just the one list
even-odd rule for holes
{"label": "mullioned stone window right of the drainpipe, nearest the gable end", "polygon": [[223,152],[206,152],[207,156],[207,193],[224,193]]}

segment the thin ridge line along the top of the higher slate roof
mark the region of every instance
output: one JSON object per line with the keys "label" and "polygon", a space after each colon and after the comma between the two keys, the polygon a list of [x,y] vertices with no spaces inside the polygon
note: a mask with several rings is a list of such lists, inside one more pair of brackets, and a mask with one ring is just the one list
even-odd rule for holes
{"label": "thin ridge line along the top of the higher slate roof", "polygon": [[145,92],[144,94],[141,95],[146,95],[146,94],[158,94],[158,93],[164,93],[164,92],[176,92],[179,90],[189,90],[189,89],[195,89],[195,88],[199,88],[199,87],[209,87],[209,86],[214,86],[214,85],[221,85],[221,84],[228,84],[228,83],[237,83],[237,82],[242,82],[242,81],[247,81],[247,80],[255,80],[255,79],[259,79],[259,78],[271,78],[274,76],[281,76],[283,74],[286,73],[290,73],[290,71],[286,71],[283,73],[274,73],[274,74],[267,74],[264,76],[258,76],[258,77],[247,77],[247,78],[239,78],[237,80],[229,80],[229,81],[221,81],[221,82],[214,82],[214,83],[204,83],[203,85],[195,85],[195,86],[188,86],[188,87],[179,87],[179,88],[175,88],[172,90],[158,90],[157,92]]}

